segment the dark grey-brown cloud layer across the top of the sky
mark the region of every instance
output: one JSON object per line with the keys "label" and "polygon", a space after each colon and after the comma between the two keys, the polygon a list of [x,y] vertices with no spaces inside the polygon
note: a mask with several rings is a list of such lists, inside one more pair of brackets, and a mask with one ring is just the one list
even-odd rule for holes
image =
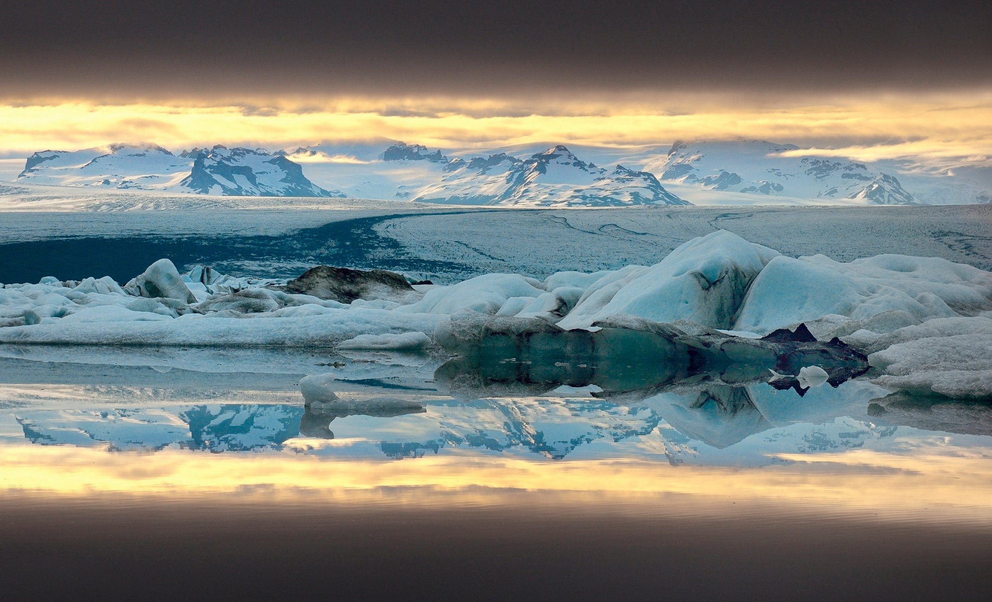
{"label": "dark grey-brown cloud layer across the top of the sky", "polygon": [[8,0],[0,96],[973,87],[990,4]]}

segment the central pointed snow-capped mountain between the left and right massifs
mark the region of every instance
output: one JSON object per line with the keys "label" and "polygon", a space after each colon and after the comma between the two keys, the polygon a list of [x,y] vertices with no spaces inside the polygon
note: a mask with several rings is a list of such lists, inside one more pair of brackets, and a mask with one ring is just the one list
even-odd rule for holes
{"label": "central pointed snow-capped mountain between the left and right massifs", "polygon": [[585,163],[562,145],[529,159],[506,154],[454,159],[416,200],[516,206],[686,205],[654,175],[623,166],[612,171]]}

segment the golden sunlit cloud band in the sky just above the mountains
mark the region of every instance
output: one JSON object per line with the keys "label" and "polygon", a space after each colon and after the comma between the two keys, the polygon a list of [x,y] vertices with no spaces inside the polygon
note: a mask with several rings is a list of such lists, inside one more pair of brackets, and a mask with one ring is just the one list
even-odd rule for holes
{"label": "golden sunlit cloud band in the sky just above the mountains", "polygon": [[661,146],[744,137],[863,161],[986,165],[992,157],[992,91],[777,102],[710,94],[694,102],[628,95],[612,102],[343,98],[0,104],[0,150],[7,157],[109,142],[154,142],[171,150],[213,144],[276,149],[380,137],[462,150],[545,142]]}

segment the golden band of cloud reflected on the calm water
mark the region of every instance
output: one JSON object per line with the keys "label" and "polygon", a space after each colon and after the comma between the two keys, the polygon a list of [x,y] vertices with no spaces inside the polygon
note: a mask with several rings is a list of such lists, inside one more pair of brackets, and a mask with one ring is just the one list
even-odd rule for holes
{"label": "golden band of cloud reflected on the calm water", "polygon": [[[305,441],[301,439],[301,441]],[[315,443],[316,441],[314,441]],[[904,455],[855,449],[777,454],[761,468],[672,466],[644,459],[550,460],[459,453],[406,460],[315,457],[292,450],[217,454],[4,444],[0,495],[120,493],[165,498],[237,494],[277,502],[386,500],[403,505],[500,504],[511,492],[582,499],[680,494],[700,503],[772,500],[849,513],[884,510],[920,520],[992,525],[986,450]]]}

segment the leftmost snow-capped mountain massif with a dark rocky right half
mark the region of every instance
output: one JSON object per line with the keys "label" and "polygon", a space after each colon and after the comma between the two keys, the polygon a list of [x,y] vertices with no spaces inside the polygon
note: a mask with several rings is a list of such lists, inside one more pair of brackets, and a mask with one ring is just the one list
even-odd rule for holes
{"label": "leftmost snow-capped mountain massif with a dark rocky right half", "polygon": [[219,145],[180,155],[153,144],[43,151],[28,158],[17,181],[239,196],[343,196],[313,184],[286,157]]}

